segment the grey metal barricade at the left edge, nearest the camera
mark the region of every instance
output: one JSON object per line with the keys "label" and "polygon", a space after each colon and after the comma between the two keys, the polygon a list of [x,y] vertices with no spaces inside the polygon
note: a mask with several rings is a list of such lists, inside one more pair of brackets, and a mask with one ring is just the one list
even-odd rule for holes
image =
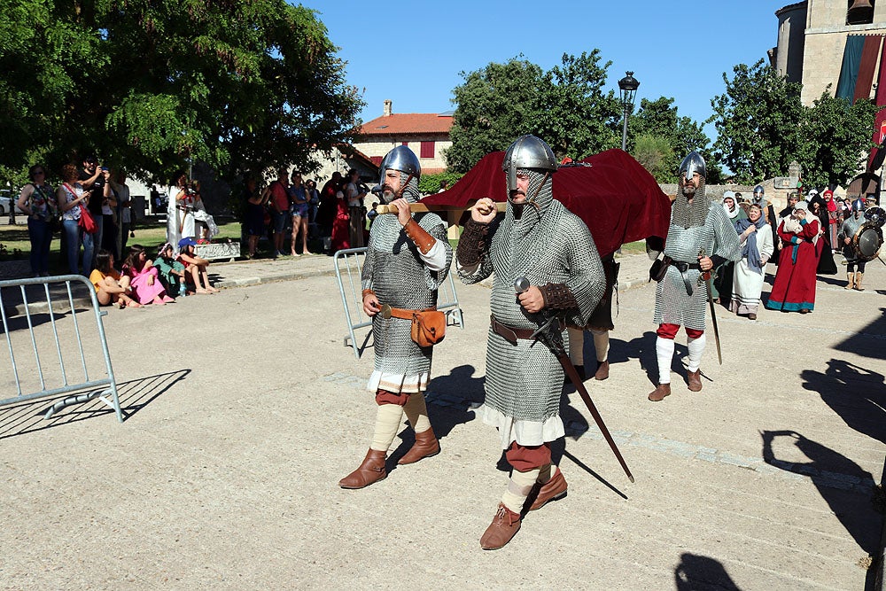
{"label": "grey metal barricade at the left edge, nearest the camera", "polygon": [[[51,284],[64,284],[64,288],[58,290],[61,292],[60,297],[58,295],[54,297],[54,294],[51,293]],[[77,311],[77,308],[74,306],[74,293],[71,290],[72,284],[83,284],[89,292],[92,315],[96,321],[98,345],[105,356],[104,371],[97,369],[99,363],[93,360],[96,344],[88,341],[87,348],[89,352],[84,349],[81,323],[78,321],[77,316],[78,314],[88,315],[89,311],[84,311],[82,308],[80,312]],[[26,288],[30,285],[42,285],[45,299],[29,300]],[[18,303],[11,301],[13,299],[12,294],[16,292],[16,288],[18,288],[17,291],[21,298],[21,315],[8,315],[7,307],[15,306]],[[42,312],[37,310],[43,306],[46,307],[45,315],[48,316],[48,319],[42,322],[35,322],[42,320],[39,317]],[[67,396],[62,400],[58,400],[49,408],[44,418],[50,418],[58,410],[66,406],[97,398],[113,408],[117,415],[117,420],[122,423],[123,414],[120,410],[120,399],[117,395],[117,383],[113,377],[111,354],[108,352],[105,327],[102,323],[102,316],[105,314],[105,312],[101,312],[98,309],[95,287],[89,283],[86,277],[80,275],[0,281],[0,318],[3,320],[4,340],[9,352],[12,377],[17,392],[17,395],[12,398],[0,400],[0,407],[27,400],[57,396],[58,394],[80,392],[77,395]],[[70,318],[67,318],[67,315],[70,315]],[[67,322],[69,320],[71,321],[70,323]],[[16,322],[25,323],[27,327],[23,325],[17,329],[13,326]],[[47,323],[48,327],[46,326]],[[86,326],[83,327],[83,330],[87,330]],[[25,330],[26,328],[27,331]],[[51,352],[53,340],[55,343],[54,354]],[[70,346],[69,348],[72,342],[76,346]],[[30,344],[33,350],[33,360],[20,351],[21,348],[26,348],[28,344]],[[41,348],[43,348],[43,356],[41,356]],[[49,350],[49,355],[46,354],[47,350]],[[74,365],[81,366],[82,377],[79,371],[75,372],[70,367],[66,368],[66,354],[68,355],[68,362],[71,362],[70,358],[73,356]],[[56,357],[58,357],[58,364],[56,364]],[[49,359],[52,361],[48,361]],[[90,369],[92,369],[91,376]],[[104,375],[97,376],[99,372]],[[72,374],[72,377],[68,376],[69,373]],[[23,389],[23,382],[27,382],[28,378],[31,382],[39,382],[39,385],[34,384],[32,387],[28,387],[26,383]]]}

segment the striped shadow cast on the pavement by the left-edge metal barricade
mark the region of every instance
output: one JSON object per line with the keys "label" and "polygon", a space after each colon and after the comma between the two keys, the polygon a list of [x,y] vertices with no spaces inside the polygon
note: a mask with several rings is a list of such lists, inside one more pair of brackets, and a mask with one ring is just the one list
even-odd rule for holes
{"label": "striped shadow cast on the pavement by the left-edge metal barricade", "polygon": [[[118,382],[117,396],[120,399],[123,421],[127,421],[153,400],[157,400],[161,394],[166,393],[169,388],[183,380],[189,373],[190,369],[179,369],[128,382]],[[29,400],[0,408],[0,439],[43,431],[97,416],[114,415],[113,408],[108,407],[101,400],[93,399],[64,408],[49,419],[43,418],[54,403],[72,395],[74,393],[66,393],[52,398]]]}

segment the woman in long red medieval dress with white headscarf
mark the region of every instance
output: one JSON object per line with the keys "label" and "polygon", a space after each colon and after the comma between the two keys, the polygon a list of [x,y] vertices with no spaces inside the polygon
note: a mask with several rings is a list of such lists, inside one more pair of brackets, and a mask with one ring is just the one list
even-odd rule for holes
{"label": "woman in long red medieval dress with white headscarf", "polygon": [[815,307],[815,269],[824,246],[819,239],[821,223],[801,201],[794,206],[794,213],[781,221],[778,235],[784,247],[766,307],[808,314]]}

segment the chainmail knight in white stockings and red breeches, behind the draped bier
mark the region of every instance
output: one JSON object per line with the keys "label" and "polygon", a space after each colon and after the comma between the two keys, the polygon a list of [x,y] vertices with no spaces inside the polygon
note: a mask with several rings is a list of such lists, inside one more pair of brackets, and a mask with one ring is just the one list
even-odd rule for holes
{"label": "chainmail knight in white stockings and red breeches, behind the draped bier", "polygon": [[[692,392],[702,389],[699,368],[706,341],[704,320],[708,291],[699,276],[702,271],[719,267],[726,261],[738,261],[742,256],[742,245],[726,211],[704,194],[707,172],[698,152],[689,152],[683,159],[679,176],[671,225],[664,241],[667,270],[656,287],[658,385],[649,393],[649,400],[653,402],[671,394],[673,339],[680,326],[686,330],[689,350],[688,388]],[[651,254],[657,257],[659,253]]]}

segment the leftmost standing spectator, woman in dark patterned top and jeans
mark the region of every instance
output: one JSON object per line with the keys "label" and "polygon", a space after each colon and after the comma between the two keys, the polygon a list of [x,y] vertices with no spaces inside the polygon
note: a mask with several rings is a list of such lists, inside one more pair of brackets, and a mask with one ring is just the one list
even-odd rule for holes
{"label": "leftmost standing spectator, woman in dark patterned top and jeans", "polygon": [[31,239],[31,274],[46,277],[50,274],[50,222],[56,216],[56,200],[52,187],[46,183],[46,168],[35,164],[27,171],[30,183],[21,189],[16,205],[27,214],[27,236]]}

